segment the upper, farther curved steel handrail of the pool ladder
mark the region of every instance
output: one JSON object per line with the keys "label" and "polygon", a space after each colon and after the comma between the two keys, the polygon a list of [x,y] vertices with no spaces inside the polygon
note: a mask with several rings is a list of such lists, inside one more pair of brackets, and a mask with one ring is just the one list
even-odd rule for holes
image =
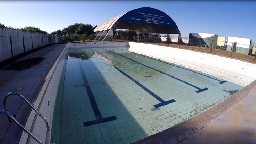
{"label": "upper, farther curved steel handrail of the pool ladder", "polygon": [[[17,95],[17,96],[20,96],[34,111],[36,111],[36,113],[41,117],[43,118],[45,124],[46,124],[46,128],[47,130],[50,130],[49,128],[49,124],[47,122],[47,119],[33,106],[31,105],[31,103],[19,92],[9,92],[8,94],[6,94],[5,98],[4,98],[4,108],[5,108],[5,111],[8,112],[7,110],[7,106],[6,106],[6,99],[10,96],[10,95]],[[9,119],[9,122],[11,122],[10,118],[8,117]]]}

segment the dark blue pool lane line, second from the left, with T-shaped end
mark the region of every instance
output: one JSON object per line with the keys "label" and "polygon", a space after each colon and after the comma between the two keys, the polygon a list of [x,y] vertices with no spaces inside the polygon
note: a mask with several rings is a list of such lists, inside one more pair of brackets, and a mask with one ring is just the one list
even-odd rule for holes
{"label": "dark blue pool lane line, second from the left, with T-shaped end", "polygon": [[[91,50],[91,49],[90,49]],[[93,51],[93,50],[92,50]],[[94,52],[94,51],[93,51]],[[95,53],[95,52],[94,52]],[[113,65],[113,64],[112,64]],[[170,103],[176,102],[174,99],[171,99],[169,101],[165,101],[162,98],[160,98],[158,95],[156,95],[154,92],[150,91],[148,88],[146,88],[144,85],[140,84],[137,80],[130,77],[128,74],[124,73],[122,70],[118,69],[115,65],[113,65],[114,68],[116,68],[121,74],[132,80],[135,84],[137,84],[139,87],[141,87],[143,90],[148,92],[151,96],[153,96],[156,100],[158,100],[160,103],[153,105],[155,108],[168,105]]]}

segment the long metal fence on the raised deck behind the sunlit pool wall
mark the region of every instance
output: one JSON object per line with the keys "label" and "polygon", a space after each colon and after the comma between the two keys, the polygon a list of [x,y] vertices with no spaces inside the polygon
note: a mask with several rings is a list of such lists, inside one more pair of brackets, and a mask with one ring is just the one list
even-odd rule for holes
{"label": "long metal fence on the raised deck behind the sunlit pool wall", "polygon": [[157,37],[157,36],[133,36],[114,38],[113,41],[133,41],[148,44],[158,44],[174,48],[195,50],[205,53],[213,53],[225,57],[241,59],[255,63],[256,46],[235,42],[215,41],[202,38],[178,38],[178,37]]}

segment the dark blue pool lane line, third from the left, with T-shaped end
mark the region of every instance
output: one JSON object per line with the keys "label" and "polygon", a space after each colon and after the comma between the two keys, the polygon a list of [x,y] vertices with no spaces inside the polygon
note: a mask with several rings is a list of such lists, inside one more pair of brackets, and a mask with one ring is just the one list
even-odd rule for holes
{"label": "dark blue pool lane line, third from the left, with T-shaped end", "polygon": [[[103,48],[103,49],[105,49],[105,48]],[[107,49],[105,49],[105,50],[107,50]],[[112,52],[111,50],[108,50],[108,51],[109,51],[109,52]],[[118,54],[118,53],[115,53],[115,52],[112,52],[112,53],[117,54],[117,55],[120,55],[121,57],[127,58],[127,57],[125,57],[125,56],[123,56],[123,55],[121,55],[121,54]],[[140,63],[140,62],[137,62],[137,61],[135,61],[135,60],[133,60],[133,59],[130,59],[130,58],[127,58],[127,59],[132,60],[133,62],[136,62],[136,63],[141,64],[141,65],[143,65],[143,66],[146,66],[147,68],[150,68],[150,69],[153,69],[153,70],[155,70],[155,71],[158,71],[159,73],[162,73],[162,74],[165,74],[165,75],[167,75],[167,76],[170,76],[171,78],[174,78],[174,79],[176,79],[176,80],[178,80],[178,81],[180,81],[180,82],[183,82],[183,83],[185,83],[185,84],[187,84],[187,85],[189,85],[189,86],[192,86],[192,87],[198,89],[198,91],[195,91],[195,92],[197,92],[197,93],[200,93],[200,92],[203,92],[203,91],[208,90],[207,87],[201,89],[201,88],[199,88],[199,87],[197,87],[197,86],[194,86],[194,85],[192,85],[192,84],[190,84],[190,83],[188,83],[188,82],[186,82],[186,81],[183,81],[183,80],[181,80],[181,79],[178,79],[178,78],[176,78],[176,77],[174,77],[174,76],[172,76],[172,75],[166,74],[166,73],[164,73],[164,72],[162,72],[162,71],[160,71],[160,70],[151,68],[150,66],[147,66],[147,65],[145,65],[145,64],[142,64],[142,63]]]}

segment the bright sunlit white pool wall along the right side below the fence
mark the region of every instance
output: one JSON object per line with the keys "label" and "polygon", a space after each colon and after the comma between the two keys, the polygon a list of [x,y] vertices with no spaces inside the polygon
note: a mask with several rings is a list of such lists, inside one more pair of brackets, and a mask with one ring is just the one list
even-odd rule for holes
{"label": "bright sunlit white pool wall along the right side below the fence", "polygon": [[129,46],[129,51],[131,52],[203,71],[242,86],[249,85],[256,79],[256,65],[252,63],[218,55],[151,44],[129,42]]}

